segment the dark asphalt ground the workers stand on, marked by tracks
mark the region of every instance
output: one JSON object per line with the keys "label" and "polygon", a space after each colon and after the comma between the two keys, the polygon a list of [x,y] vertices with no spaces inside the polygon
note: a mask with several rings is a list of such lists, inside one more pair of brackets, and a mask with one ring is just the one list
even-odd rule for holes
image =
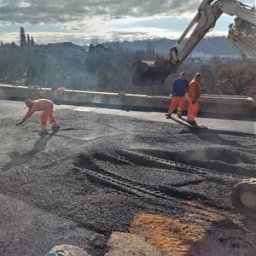
{"label": "dark asphalt ground the workers stand on, marked by tracks", "polygon": [[15,126],[24,107],[0,101],[0,255],[44,255],[64,243],[104,255],[109,235],[128,231],[137,212],[240,228],[228,195],[256,177],[253,120],[199,118],[195,129],[163,113],[61,105],[60,131],[40,136],[40,113]]}

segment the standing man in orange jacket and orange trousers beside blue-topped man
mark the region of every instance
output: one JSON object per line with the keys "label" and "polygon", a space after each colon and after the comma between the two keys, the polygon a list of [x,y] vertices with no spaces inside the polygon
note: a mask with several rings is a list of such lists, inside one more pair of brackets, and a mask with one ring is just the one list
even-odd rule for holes
{"label": "standing man in orange jacket and orange trousers beside blue-topped man", "polygon": [[198,99],[201,97],[201,73],[195,73],[194,79],[189,84],[189,109],[187,122],[189,125],[196,125],[195,117],[199,111]]}

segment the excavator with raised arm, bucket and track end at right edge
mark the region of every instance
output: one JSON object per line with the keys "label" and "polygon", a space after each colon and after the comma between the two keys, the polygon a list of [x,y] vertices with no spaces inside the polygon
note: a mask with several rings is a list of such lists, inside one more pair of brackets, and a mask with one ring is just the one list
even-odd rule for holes
{"label": "excavator with raised arm, bucket and track end at right edge", "polygon": [[[132,67],[134,85],[164,84],[171,73],[175,73],[188,55],[195,49],[207,32],[212,31],[218,18],[223,15],[237,16],[255,26],[255,6],[250,7],[236,0],[203,0],[194,19],[184,30],[177,44],[170,49],[169,58],[158,57],[155,61],[136,61]],[[183,39],[195,26],[183,48],[178,50]],[[256,220],[256,179],[251,178],[236,184],[230,193],[231,203],[248,219]]]}

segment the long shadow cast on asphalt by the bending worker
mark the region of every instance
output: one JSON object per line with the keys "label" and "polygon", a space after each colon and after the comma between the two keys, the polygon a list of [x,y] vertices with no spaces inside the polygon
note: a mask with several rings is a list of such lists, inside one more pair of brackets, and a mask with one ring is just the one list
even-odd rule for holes
{"label": "long shadow cast on asphalt by the bending worker", "polygon": [[53,132],[49,135],[41,135],[38,139],[38,141],[34,144],[32,150],[26,152],[25,154],[19,154],[18,151],[14,151],[9,153],[9,157],[11,160],[9,163],[7,163],[5,166],[3,166],[2,171],[8,171],[13,166],[19,166],[21,164],[28,164],[35,154],[37,154],[40,151],[44,151],[47,143],[49,143],[50,139],[53,137],[53,135],[57,131]]}

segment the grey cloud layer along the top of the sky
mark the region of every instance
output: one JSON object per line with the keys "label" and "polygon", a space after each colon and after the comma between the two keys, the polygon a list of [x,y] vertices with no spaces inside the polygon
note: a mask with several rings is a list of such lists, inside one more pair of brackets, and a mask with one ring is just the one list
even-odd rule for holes
{"label": "grey cloud layer along the top of the sky", "polygon": [[195,13],[200,0],[3,0],[0,2],[0,20],[11,23],[65,24],[73,21],[102,17],[116,20],[128,17],[154,15],[180,16]]}

